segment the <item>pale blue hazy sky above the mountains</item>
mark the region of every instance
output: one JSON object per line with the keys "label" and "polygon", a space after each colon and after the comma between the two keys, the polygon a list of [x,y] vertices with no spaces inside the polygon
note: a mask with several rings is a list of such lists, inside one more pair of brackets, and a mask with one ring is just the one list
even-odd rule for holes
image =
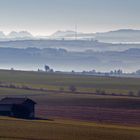
{"label": "pale blue hazy sky above the mountains", "polygon": [[0,30],[48,35],[57,30],[140,29],[140,0],[0,0]]}

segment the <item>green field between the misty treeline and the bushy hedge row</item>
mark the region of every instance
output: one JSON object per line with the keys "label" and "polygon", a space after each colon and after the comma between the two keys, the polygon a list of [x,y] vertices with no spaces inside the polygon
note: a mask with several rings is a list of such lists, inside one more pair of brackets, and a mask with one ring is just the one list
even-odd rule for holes
{"label": "green field between the misty treeline and the bushy hedge row", "polygon": [[53,90],[59,90],[60,87],[68,90],[70,85],[75,85],[78,91],[84,92],[95,92],[96,89],[100,89],[109,93],[128,93],[129,91],[136,93],[140,90],[140,79],[138,78],[76,76],[1,70],[0,81]]}

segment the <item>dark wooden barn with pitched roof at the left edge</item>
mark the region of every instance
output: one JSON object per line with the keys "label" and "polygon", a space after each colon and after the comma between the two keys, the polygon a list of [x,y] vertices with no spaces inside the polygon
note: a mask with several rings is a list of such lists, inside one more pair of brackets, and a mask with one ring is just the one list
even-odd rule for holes
{"label": "dark wooden barn with pitched roof at the left edge", "polygon": [[0,100],[0,115],[18,118],[34,118],[35,104],[28,98],[3,98]]}

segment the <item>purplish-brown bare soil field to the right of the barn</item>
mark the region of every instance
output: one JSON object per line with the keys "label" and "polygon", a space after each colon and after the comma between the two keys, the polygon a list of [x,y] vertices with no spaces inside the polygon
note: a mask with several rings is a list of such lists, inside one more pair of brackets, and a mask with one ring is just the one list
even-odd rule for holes
{"label": "purplish-brown bare soil field to the right of the barn", "polygon": [[140,125],[140,99],[93,95],[36,95],[36,116]]}

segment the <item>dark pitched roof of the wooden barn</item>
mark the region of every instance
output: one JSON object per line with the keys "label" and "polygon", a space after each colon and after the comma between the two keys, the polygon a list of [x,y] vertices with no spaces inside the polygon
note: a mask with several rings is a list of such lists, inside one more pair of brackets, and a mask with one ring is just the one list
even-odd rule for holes
{"label": "dark pitched roof of the wooden barn", "polygon": [[2,100],[0,100],[0,104],[23,104],[25,102],[31,102],[33,104],[36,104],[36,102],[34,102],[33,100],[29,99],[29,98],[3,98]]}

